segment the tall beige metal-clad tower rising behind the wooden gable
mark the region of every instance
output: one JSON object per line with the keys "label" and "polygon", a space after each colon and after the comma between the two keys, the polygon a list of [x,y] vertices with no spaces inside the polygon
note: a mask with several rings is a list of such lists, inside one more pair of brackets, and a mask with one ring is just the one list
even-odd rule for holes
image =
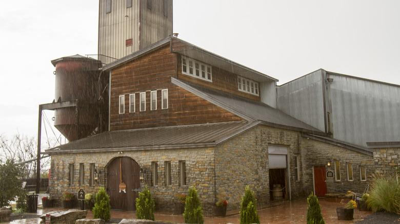
{"label": "tall beige metal-clad tower rising behind the wooden gable", "polygon": [[119,59],[171,34],[172,0],[99,0],[99,55]]}

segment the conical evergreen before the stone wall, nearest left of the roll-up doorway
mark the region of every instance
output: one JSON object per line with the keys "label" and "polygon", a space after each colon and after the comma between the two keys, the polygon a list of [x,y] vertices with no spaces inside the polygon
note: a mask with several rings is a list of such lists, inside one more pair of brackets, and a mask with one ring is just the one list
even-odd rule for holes
{"label": "conical evergreen before the stone wall, nearest left of the roll-up doorway", "polygon": [[257,199],[255,199],[253,191],[250,190],[249,185],[247,185],[241,203],[241,224],[259,223],[256,206]]}

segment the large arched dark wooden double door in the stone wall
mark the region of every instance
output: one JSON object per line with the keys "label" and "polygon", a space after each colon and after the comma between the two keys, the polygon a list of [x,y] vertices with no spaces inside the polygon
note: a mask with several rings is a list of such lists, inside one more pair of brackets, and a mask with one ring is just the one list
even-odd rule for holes
{"label": "large arched dark wooden double door in the stone wall", "polygon": [[[110,163],[107,169],[107,193],[110,196],[112,209],[136,210],[135,199],[141,187],[140,169],[140,166],[129,157],[119,157]],[[121,178],[126,184],[126,193],[119,189]]]}

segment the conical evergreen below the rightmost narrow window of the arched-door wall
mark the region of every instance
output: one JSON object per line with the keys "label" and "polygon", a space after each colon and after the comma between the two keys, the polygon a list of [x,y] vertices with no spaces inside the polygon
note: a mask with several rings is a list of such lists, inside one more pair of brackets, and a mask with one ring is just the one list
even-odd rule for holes
{"label": "conical evergreen below the rightmost narrow window of the arched-door wall", "polygon": [[197,196],[197,190],[194,187],[189,188],[183,216],[185,217],[185,223],[204,222],[203,209]]}

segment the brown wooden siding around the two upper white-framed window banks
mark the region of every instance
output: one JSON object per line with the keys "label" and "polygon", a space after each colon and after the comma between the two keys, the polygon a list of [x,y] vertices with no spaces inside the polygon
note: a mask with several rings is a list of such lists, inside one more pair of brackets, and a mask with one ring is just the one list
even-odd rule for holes
{"label": "brown wooden siding around the two upper white-framed window banks", "polygon": [[[208,88],[218,89],[220,91],[223,91],[223,92],[226,92],[229,94],[246,97],[246,98],[249,98],[252,100],[257,100],[257,101],[261,100],[260,96],[255,96],[255,95],[241,92],[238,90],[237,74],[228,72],[223,69],[219,69],[215,66],[212,66],[212,69],[211,69],[212,70],[212,82],[198,79],[198,78],[195,78],[190,75],[182,74],[182,61],[181,61],[182,59],[181,58],[182,58],[181,56],[178,56],[178,61],[179,61],[177,64],[177,68],[178,68],[177,78],[178,79],[181,79],[181,80],[184,80],[187,82],[191,82],[191,83],[195,83],[198,85],[202,85],[202,86],[205,86]],[[258,86],[259,86],[259,84],[260,83],[258,83]]]}

